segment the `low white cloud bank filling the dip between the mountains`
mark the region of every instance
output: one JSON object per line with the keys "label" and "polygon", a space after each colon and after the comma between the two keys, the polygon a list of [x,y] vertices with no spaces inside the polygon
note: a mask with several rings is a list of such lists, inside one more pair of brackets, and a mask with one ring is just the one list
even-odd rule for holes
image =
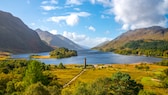
{"label": "low white cloud bank filling the dip between the mountains", "polygon": [[111,38],[106,37],[96,37],[96,38],[90,38],[83,34],[76,34],[75,32],[63,32],[63,36],[67,37],[68,39],[74,41],[75,43],[87,46],[87,47],[94,47],[102,42],[105,42],[107,40],[112,40]]}

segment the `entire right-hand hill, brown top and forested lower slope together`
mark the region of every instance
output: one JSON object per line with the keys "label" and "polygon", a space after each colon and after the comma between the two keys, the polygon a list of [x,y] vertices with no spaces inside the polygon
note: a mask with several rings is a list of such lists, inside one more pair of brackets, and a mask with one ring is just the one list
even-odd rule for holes
{"label": "entire right-hand hill, brown top and forested lower slope together", "polygon": [[168,29],[159,26],[130,30],[93,49],[119,54],[168,57]]}

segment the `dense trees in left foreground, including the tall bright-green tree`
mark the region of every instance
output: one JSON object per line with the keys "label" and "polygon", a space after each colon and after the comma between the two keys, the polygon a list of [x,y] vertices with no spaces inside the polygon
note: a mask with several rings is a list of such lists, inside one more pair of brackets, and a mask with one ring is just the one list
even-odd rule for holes
{"label": "dense trees in left foreground, including the tall bright-green tree", "polygon": [[35,60],[0,61],[0,95],[60,95],[62,85],[50,68]]}

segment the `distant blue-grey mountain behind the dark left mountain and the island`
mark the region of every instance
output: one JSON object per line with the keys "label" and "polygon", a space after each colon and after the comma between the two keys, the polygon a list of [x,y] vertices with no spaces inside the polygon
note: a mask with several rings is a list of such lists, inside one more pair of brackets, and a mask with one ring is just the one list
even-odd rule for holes
{"label": "distant blue-grey mountain behind the dark left mountain and the island", "polygon": [[48,31],[42,31],[40,29],[36,29],[35,31],[39,34],[40,38],[50,46],[65,47],[73,50],[82,49],[82,47],[62,35],[53,35]]}

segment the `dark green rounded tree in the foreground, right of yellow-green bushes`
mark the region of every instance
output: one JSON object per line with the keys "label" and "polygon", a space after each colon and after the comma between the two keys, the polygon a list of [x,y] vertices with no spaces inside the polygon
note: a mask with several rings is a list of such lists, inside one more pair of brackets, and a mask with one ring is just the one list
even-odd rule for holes
{"label": "dark green rounded tree in the foreground, right of yellow-green bushes", "polygon": [[117,72],[111,77],[112,94],[115,95],[137,95],[143,89],[141,84],[131,80],[129,74]]}

